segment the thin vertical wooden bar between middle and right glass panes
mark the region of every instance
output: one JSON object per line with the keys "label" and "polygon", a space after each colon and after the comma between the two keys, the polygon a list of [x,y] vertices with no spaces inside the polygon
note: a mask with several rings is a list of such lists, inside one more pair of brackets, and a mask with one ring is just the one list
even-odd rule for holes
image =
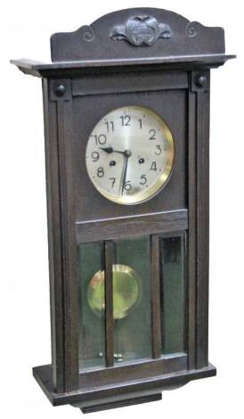
{"label": "thin vertical wooden bar between middle and right glass panes", "polygon": [[161,316],[160,316],[160,252],[159,235],[152,234],[150,238],[151,264],[151,341],[152,357],[161,356]]}

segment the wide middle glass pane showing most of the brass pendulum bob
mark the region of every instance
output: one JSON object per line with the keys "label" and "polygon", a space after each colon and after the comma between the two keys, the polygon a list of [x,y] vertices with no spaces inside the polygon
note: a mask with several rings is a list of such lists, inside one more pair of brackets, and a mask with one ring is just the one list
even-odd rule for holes
{"label": "wide middle glass pane showing most of the brass pendulum bob", "polygon": [[113,287],[115,364],[151,357],[149,236],[116,242]]}

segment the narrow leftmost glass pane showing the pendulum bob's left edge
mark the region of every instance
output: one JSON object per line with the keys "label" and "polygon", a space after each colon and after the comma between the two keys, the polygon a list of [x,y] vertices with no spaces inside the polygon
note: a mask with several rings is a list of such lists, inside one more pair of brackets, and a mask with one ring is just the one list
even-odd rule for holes
{"label": "narrow leftmost glass pane showing the pendulum bob's left edge", "polygon": [[[79,368],[82,370],[105,365],[103,265],[102,243],[78,245]],[[94,307],[96,299],[99,300],[100,310]]]}

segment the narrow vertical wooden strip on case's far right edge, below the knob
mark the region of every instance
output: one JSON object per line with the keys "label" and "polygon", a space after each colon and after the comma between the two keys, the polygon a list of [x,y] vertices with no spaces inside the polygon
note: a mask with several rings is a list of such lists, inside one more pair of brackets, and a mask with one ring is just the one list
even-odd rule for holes
{"label": "narrow vertical wooden strip on case's far right edge, below the knob", "polygon": [[209,92],[197,96],[197,118],[196,365],[197,368],[203,368],[208,363]]}

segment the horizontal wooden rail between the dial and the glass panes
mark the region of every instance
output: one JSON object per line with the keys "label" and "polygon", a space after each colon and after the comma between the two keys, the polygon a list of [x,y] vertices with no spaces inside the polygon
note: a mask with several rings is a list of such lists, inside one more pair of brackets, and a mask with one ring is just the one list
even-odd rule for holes
{"label": "horizontal wooden rail between the dial and the glass panes", "polygon": [[177,209],[143,216],[77,222],[77,242],[98,242],[144,234],[183,231],[188,228],[188,210]]}

